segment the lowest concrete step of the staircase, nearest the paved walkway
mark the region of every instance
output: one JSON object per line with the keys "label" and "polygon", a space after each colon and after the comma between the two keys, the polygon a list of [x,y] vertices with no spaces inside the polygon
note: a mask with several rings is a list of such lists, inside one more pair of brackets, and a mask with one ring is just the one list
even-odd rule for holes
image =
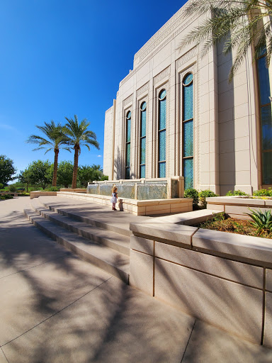
{"label": "lowest concrete step of the staircase, nearest the paved walkway", "polygon": [[87,262],[100,267],[128,284],[130,258],[127,255],[65,230],[60,225],[38,215],[33,209],[24,209],[24,213],[33,225],[40,228],[50,238],[67,247],[68,250]]}

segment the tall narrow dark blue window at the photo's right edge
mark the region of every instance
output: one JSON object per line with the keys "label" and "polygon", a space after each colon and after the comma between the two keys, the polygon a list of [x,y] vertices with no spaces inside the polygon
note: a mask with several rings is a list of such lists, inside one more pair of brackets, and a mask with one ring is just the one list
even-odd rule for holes
{"label": "tall narrow dark blue window at the photo's right edge", "polygon": [[272,117],[269,73],[266,68],[266,50],[258,61],[259,104],[261,120],[262,184],[272,184]]}

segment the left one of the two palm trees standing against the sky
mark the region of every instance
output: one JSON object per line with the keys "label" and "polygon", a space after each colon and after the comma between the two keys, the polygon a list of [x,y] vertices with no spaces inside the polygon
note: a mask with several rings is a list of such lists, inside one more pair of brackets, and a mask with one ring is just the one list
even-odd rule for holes
{"label": "left one of the two palm trees standing against the sky", "polygon": [[38,147],[33,149],[33,151],[47,149],[45,151],[46,154],[48,151],[54,150],[55,159],[52,186],[57,186],[57,160],[59,157],[60,149],[68,150],[71,152],[70,147],[67,146],[68,138],[64,133],[64,127],[60,123],[55,124],[54,121],[51,121],[51,123],[45,122],[45,126],[36,125],[36,128],[42,131],[42,133],[46,135],[46,138],[42,138],[42,136],[38,135],[30,135],[26,142],[39,145]]}

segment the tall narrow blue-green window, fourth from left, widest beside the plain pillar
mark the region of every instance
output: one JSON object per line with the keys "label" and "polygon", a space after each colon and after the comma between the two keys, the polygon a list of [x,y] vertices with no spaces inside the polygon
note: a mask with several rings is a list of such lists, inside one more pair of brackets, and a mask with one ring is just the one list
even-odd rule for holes
{"label": "tall narrow blue-green window, fourth from left, widest beside the plain pillar", "polygon": [[193,188],[193,74],[183,78],[183,177],[184,189]]}

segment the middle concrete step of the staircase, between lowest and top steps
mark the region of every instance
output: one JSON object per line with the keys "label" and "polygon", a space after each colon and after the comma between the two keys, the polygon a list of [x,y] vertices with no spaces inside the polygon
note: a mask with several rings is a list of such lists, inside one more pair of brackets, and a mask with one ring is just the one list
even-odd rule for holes
{"label": "middle concrete step of the staircase, between lowest and top steps", "polygon": [[59,213],[50,211],[45,208],[35,208],[36,213],[47,218],[50,222],[60,225],[62,228],[77,233],[84,238],[92,240],[101,245],[112,248],[115,251],[121,252],[124,255],[130,255],[130,238],[125,235],[119,235],[111,230],[95,227],[84,222],[79,222],[72,218],[62,216]]}

